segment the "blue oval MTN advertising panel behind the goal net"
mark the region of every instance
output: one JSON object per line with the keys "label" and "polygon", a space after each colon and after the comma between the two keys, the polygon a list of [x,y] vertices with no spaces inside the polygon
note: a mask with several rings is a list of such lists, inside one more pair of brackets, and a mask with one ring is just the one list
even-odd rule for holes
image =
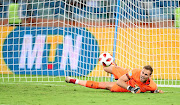
{"label": "blue oval MTN advertising panel behind the goal net", "polygon": [[99,56],[97,40],[85,28],[17,27],[2,50],[15,74],[88,75]]}

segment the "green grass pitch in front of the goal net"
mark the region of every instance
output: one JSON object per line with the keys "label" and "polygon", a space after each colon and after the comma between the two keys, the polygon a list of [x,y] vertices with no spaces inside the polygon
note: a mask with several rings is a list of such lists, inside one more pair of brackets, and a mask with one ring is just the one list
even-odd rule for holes
{"label": "green grass pitch in front of the goal net", "polygon": [[[2,79],[2,78],[1,78]],[[179,105],[180,88],[164,94],[114,93],[65,82],[0,82],[0,105]]]}

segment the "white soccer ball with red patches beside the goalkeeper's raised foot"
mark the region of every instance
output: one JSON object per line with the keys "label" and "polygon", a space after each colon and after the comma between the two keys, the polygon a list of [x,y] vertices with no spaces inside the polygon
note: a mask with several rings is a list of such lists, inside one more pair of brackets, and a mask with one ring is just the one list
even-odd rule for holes
{"label": "white soccer ball with red patches beside the goalkeeper's raised foot", "polygon": [[104,67],[111,66],[112,62],[113,62],[113,57],[109,53],[102,53],[99,56],[99,63]]}

